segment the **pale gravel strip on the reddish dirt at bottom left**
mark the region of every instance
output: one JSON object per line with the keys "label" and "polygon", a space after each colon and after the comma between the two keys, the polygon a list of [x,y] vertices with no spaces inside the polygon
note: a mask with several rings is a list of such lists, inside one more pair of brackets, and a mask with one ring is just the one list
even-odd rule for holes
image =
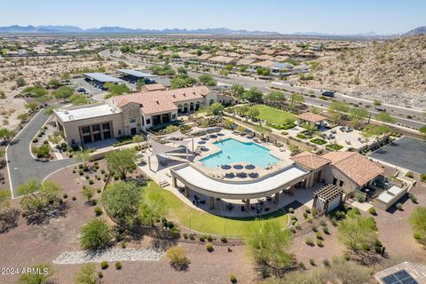
{"label": "pale gravel strip on the reddish dirt at bottom left", "polygon": [[93,253],[87,251],[66,251],[61,253],[53,264],[84,264],[106,261],[159,261],[164,251],[154,248],[112,248],[98,250]]}

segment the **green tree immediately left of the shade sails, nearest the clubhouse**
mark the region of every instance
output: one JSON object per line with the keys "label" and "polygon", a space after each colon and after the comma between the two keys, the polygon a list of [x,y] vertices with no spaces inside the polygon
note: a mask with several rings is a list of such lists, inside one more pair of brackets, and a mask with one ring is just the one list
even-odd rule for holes
{"label": "green tree immediately left of the shade sails, nearest the clubhouse", "polygon": [[110,152],[106,154],[106,165],[114,175],[126,178],[131,170],[136,169],[136,150],[127,148]]}

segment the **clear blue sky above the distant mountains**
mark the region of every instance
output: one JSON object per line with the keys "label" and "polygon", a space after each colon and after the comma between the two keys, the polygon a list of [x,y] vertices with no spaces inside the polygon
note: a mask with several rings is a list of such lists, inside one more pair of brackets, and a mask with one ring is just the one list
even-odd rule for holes
{"label": "clear blue sky above the distant mountains", "polygon": [[425,0],[2,1],[0,26],[233,28],[379,34],[426,25]]}

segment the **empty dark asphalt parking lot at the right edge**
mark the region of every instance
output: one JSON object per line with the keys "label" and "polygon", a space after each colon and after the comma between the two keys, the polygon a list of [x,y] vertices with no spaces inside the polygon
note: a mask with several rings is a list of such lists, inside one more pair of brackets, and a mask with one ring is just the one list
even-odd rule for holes
{"label": "empty dark asphalt parking lot at the right edge", "polygon": [[369,156],[406,170],[426,172],[426,142],[419,139],[399,138]]}

